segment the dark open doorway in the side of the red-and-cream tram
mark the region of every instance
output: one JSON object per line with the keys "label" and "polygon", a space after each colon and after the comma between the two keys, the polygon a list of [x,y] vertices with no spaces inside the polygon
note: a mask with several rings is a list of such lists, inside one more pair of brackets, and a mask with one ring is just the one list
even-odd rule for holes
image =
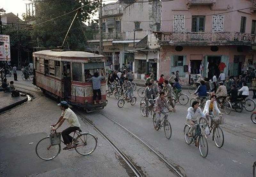
{"label": "dark open doorway in the side of the red-and-cream tram", "polygon": [[71,76],[70,76],[70,62],[62,62],[63,66],[63,82],[62,88],[64,98],[71,96]]}

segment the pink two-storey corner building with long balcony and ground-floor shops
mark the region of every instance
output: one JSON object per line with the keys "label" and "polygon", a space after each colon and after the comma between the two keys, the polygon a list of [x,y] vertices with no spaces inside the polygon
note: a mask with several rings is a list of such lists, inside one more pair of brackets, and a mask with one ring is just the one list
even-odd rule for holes
{"label": "pink two-storey corner building with long balcony and ground-floor shops", "polygon": [[158,78],[179,70],[182,82],[187,84],[194,74],[209,79],[213,74],[218,76],[220,63],[229,76],[253,67],[254,10],[256,0],[162,1],[162,32],[156,33],[161,45]]}

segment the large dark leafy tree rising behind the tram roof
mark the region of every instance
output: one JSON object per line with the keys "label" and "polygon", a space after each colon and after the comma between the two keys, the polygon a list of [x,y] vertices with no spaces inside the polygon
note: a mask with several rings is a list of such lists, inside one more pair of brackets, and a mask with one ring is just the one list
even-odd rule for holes
{"label": "large dark leafy tree rising behind the tram roof", "polygon": [[[72,50],[84,50],[86,38],[83,33],[84,26],[82,25],[82,21],[86,21],[90,18],[89,14],[93,14],[96,11],[99,2],[99,0],[36,1],[35,21],[36,24],[40,24],[86,5],[80,8],[64,45],[65,48],[70,48]],[[61,46],[75,14],[76,11],[43,23],[42,25],[34,26],[32,30],[32,38],[36,39],[37,46],[47,48]]]}

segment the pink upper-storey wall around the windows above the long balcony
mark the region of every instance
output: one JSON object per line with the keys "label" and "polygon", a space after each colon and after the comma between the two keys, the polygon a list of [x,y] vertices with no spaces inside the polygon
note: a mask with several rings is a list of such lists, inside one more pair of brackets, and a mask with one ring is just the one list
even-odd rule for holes
{"label": "pink upper-storey wall around the windows above the long balcony", "polygon": [[[256,13],[251,13],[250,9],[234,11],[238,9],[248,8],[251,6],[249,0],[217,0],[216,4],[210,5],[191,5],[187,8],[187,0],[167,1],[162,2],[162,31],[173,31],[174,15],[185,15],[185,32],[191,32],[192,16],[206,16],[205,17],[205,32],[212,31],[212,15],[225,12],[224,15],[224,31],[225,32],[239,32],[241,24],[241,16],[246,17],[246,31],[251,33],[252,19],[256,20]],[[228,11],[234,11],[227,13]],[[186,19],[187,18],[187,19]]]}

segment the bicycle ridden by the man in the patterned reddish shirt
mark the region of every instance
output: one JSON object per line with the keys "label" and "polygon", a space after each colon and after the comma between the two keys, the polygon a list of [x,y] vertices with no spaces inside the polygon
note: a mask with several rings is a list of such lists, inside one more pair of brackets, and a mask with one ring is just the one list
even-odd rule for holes
{"label": "bicycle ridden by the man in the patterned reddish shirt", "polygon": [[[169,112],[166,112],[166,113],[170,113]],[[156,112],[153,114],[153,126],[155,127],[156,126],[156,121],[157,121],[157,118],[156,118]],[[163,121],[164,120],[164,121]],[[162,122],[162,124],[161,124]],[[160,121],[160,126],[158,126],[156,128],[156,131],[158,131],[159,129],[161,129],[162,127],[164,127],[164,135],[167,139],[170,139],[172,137],[172,127],[171,127],[171,123],[169,122],[168,118],[167,119],[164,119],[164,117],[162,118],[162,120]]]}

